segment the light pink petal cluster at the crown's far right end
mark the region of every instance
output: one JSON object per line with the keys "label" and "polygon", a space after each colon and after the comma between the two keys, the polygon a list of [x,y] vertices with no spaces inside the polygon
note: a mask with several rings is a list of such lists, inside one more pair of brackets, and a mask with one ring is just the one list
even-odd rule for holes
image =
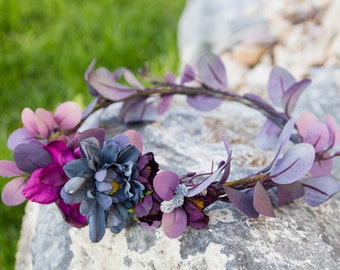
{"label": "light pink petal cluster at the crown's far right end", "polygon": [[310,170],[313,176],[329,175],[333,168],[332,158],[339,153],[330,150],[340,143],[340,129],[334,118],[326,116],[325,124],[320,123],[311,113],[302,113],[297,122],[302,141],[315,148],[315,161]]}

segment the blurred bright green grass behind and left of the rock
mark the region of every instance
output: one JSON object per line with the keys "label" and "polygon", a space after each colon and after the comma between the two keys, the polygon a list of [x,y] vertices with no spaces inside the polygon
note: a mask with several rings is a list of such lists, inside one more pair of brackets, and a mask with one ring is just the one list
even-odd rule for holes
{"label": "blurred bright green grass behind and left of the rock", "polygon": [[[155,74],[177,71],[184,2],[0,0],[0,159],[12,159],[6,141],[24,107],[90,101],[83,73],[93,58],[112,70],[148,63]],[[23,212],[0,203],[0,269],[14,267]]]}

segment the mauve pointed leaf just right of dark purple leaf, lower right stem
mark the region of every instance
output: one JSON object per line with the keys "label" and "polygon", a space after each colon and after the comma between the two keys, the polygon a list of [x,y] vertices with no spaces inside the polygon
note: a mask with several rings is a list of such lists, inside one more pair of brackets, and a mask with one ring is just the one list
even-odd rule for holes
{"label": "mauve pointed leaf just right of dark purple leaf, lower right stem", "polygon": [[254,188],[254,208],[262,215],[267,217],[275,217],[274,208],[267,191],[264,189],[260,181],[258,181]]}

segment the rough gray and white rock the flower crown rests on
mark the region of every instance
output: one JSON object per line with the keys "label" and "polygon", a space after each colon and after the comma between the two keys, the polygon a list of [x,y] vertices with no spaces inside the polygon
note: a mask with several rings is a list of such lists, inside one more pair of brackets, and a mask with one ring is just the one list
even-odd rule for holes
{"label": "rough gray and white rock the flower crown rests on", "polygon": [[[318,114],[330,109],[340,122],[339,94],[334,84],[321,81],[308,90],[311,98],[301,102],[299,110],[319,104]],[[320,91],[326,88],[327,94]],[[145,152],[153,151],[162,169],[179,174],[209,171],[212,159],[224,159],[222,135],[233,147],[231,178],[249,174],[272,155],[252,146],[264,118],[232,102],[199,113],[178,98],[159,122],[124,126],[110,119],[104,123],[109,134],[137,129]],[[250,219],[220,202],[207,209],[208,227],[187,229],[179,239],[168,239],[161,229],[148,232],[132,225],[118,235],[107,231],[93,244],[88,229],[63,223],[54,205],[28,203],[16,269],[338,269],[339,207],[339,195],[316,208],[296,200],[276,209],[274,219]]]}

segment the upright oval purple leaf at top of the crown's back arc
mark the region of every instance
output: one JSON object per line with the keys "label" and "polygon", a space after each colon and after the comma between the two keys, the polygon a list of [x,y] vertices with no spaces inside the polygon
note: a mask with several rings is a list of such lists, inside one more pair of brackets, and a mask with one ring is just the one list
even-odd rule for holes
{"label": "upright oval purple leaf at top of the crown's back arc", "polygon": [[197,71],[202,82],[214,90],[222,90],[227,87],[227,76],[224,64],[220,57],[207,53],[201,56],[197,62]]}

